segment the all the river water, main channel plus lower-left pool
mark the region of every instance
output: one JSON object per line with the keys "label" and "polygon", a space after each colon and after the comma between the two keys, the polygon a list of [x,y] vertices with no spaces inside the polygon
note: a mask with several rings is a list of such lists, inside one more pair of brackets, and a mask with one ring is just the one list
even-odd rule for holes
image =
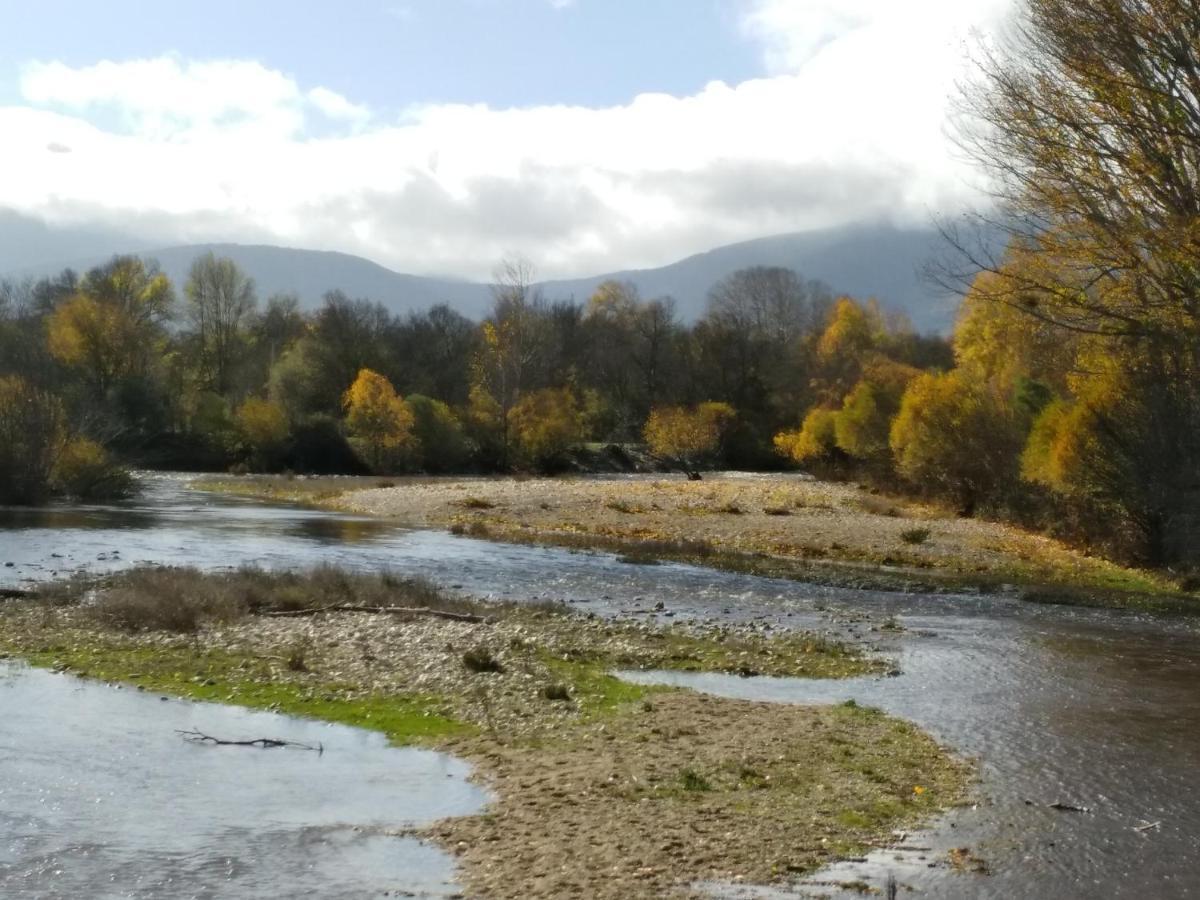
{"label": "all the river water, main channel plus lower-left pool", "polygon": [[[978,758],[977,802],[794,892],[714,886],[718,894],[840,896],[839,883],[882,888],[892,875],[901,895],[929,898],[1200,896],[1198,619],[629,565],[217,497],[187,481],[144,476],[140,497],[122,505],[0,509],[0,587],[145,563],[330,564],[606,616],[820,630],[884,653],[899,674],[625,677],[880,707]],[[881,628],[892,619],[901,630]],[[325,752],[230,762],[224,748],[175,733],[191,728],[269,733]],[[374,734],[13,665],[0,668],[0,896],[440,896],[454,892],[450,859],[392,833],[486,802],[466,766]],[[960,847],[988,874],[949,865]]]}

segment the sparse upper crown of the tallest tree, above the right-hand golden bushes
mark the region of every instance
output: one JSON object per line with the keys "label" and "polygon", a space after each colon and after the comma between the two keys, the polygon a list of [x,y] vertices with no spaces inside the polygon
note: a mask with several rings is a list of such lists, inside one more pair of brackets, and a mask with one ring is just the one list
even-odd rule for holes
{"label": "sparse upper crown of the tallest tree, above the right-hand golden bushes", "polygon": [[[1190,359],[1200,334],[1200,4],[1027,0],[980,62],[964,144],[1010,238],[989,296]],[[970,268],[1000,272],[956,241]]]}

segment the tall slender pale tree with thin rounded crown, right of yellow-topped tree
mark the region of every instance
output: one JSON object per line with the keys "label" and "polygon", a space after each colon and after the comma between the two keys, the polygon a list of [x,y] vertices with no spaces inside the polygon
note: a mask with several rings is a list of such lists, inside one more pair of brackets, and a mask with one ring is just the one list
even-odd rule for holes
{"label": "tall slender pale tree with thin rounded crown, right of yellow-topped tree", "polygon": [[258,305],[254,282],[232,259],[209,252],[192,263],[184,294],[196,329],[200,383],[229,396],[246,350],[242,329]]}

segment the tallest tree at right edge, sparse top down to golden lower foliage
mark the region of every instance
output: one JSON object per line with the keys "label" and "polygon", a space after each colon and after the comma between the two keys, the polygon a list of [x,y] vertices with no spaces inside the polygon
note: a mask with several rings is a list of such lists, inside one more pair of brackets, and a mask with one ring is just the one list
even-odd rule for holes
{"label": "tallest tree at right edge, sparse top down to golden lower foliage", "polygon": [[1028,0],[966,97],[1006,256],[950,235],[994,276],[979,298],[1082,344],[1026,474],[1109,504],[1157,559],[1200,516],[1198,22],[1196,0]]}

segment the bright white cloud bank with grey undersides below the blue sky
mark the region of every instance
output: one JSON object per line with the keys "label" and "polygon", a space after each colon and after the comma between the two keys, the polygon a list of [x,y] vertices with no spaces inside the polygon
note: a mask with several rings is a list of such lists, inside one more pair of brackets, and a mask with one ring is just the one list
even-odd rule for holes
{"label": "bright white cloud bank with grey undersides below the blue sky", "polygon": [[1009,2],[746,0],[769,77],[608,108],[422,107],[398,122],[252,61],[32,64],[25,104],[0,108],[0,205],[162,244],[274,240],[463,276],[511,251],[557,276],[769,233],[924,223],[972,196],[947,97],[967,30]]}

